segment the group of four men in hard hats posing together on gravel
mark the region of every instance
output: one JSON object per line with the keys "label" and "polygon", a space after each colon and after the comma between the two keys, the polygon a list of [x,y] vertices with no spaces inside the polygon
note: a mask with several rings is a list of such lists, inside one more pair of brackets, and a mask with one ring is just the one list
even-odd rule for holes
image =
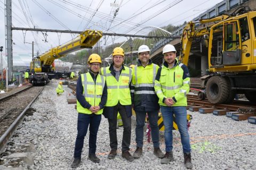
{"label": "group of four men in hard hats posing together on gravel", "polygon": [[[189,72],[186,65],[178,63],[176,50],[172,45],[163,48],[164,64],[159,67],[149,59],[148,46],[138,49],[138,64],[132,69],[123,65],[124,50],[116,47],[113,50],[113,64],[100,70],[101,58],[98,54],[89,57],[89,72],[82,74],[77,80],[77,137],[75,142],[74,161],[71,167],[81,162],[84,137],[89,127],[89,159],[99,163],[95,155],[97,132],[101,114],[108,118],[110,152],[108,159],[117,155],[117,113],[123,121],[122,157],[128,161],[142,156],[143,127],[148,114],[154,155],[161,159],[162,164],[174,161],[172,154],[173,115],[181,135],[184,164],[192,168],[189,134],[187,130],[187,98],[189,91]],[[158,112],[164,121],[165,151],[159,148]],[[137,148],[130,154],[132,108],[136,114]]]}

